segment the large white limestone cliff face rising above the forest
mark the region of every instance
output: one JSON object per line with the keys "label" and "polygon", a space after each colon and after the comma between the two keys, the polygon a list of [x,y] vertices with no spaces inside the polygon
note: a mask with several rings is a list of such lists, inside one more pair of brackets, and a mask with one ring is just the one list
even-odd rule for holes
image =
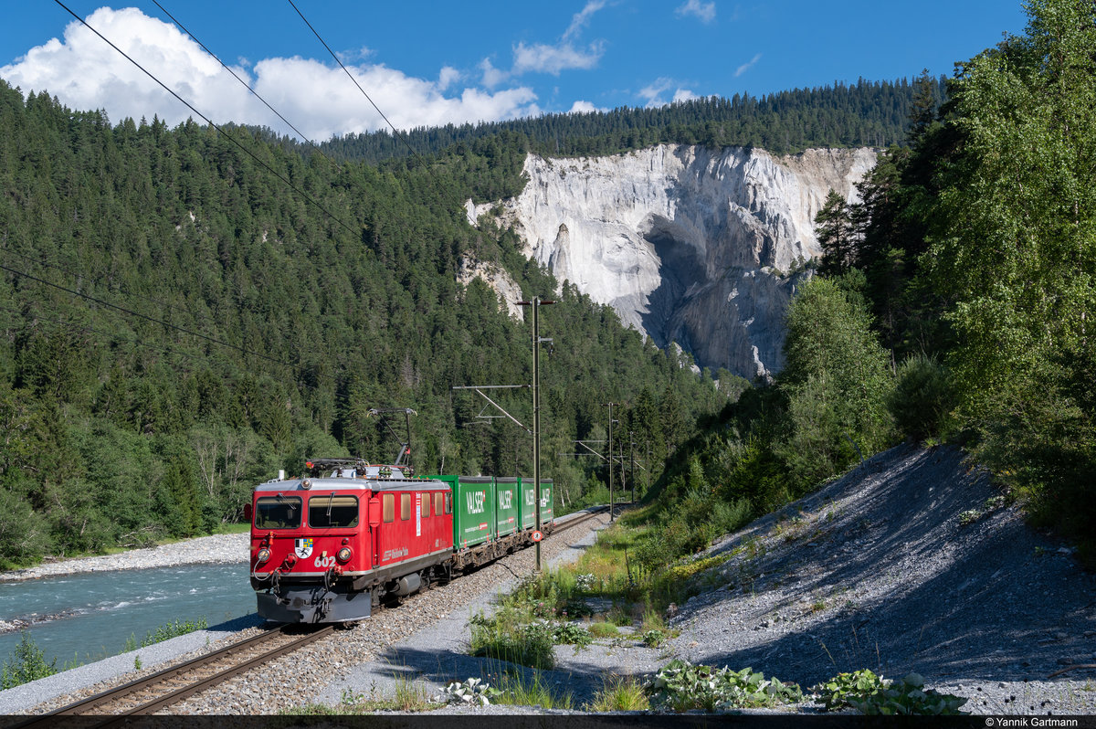
{"label": "large white limestone cliff face rising above the forest", "polygon": [[784,312],[801,262],[821,257],[814,216],[830,190],[855,198],[871,149],[663,145],[614,157],[525,161],[501,206],[526,254],[659,346],[678,342],[703,366],[753,379],[783,365]]}

